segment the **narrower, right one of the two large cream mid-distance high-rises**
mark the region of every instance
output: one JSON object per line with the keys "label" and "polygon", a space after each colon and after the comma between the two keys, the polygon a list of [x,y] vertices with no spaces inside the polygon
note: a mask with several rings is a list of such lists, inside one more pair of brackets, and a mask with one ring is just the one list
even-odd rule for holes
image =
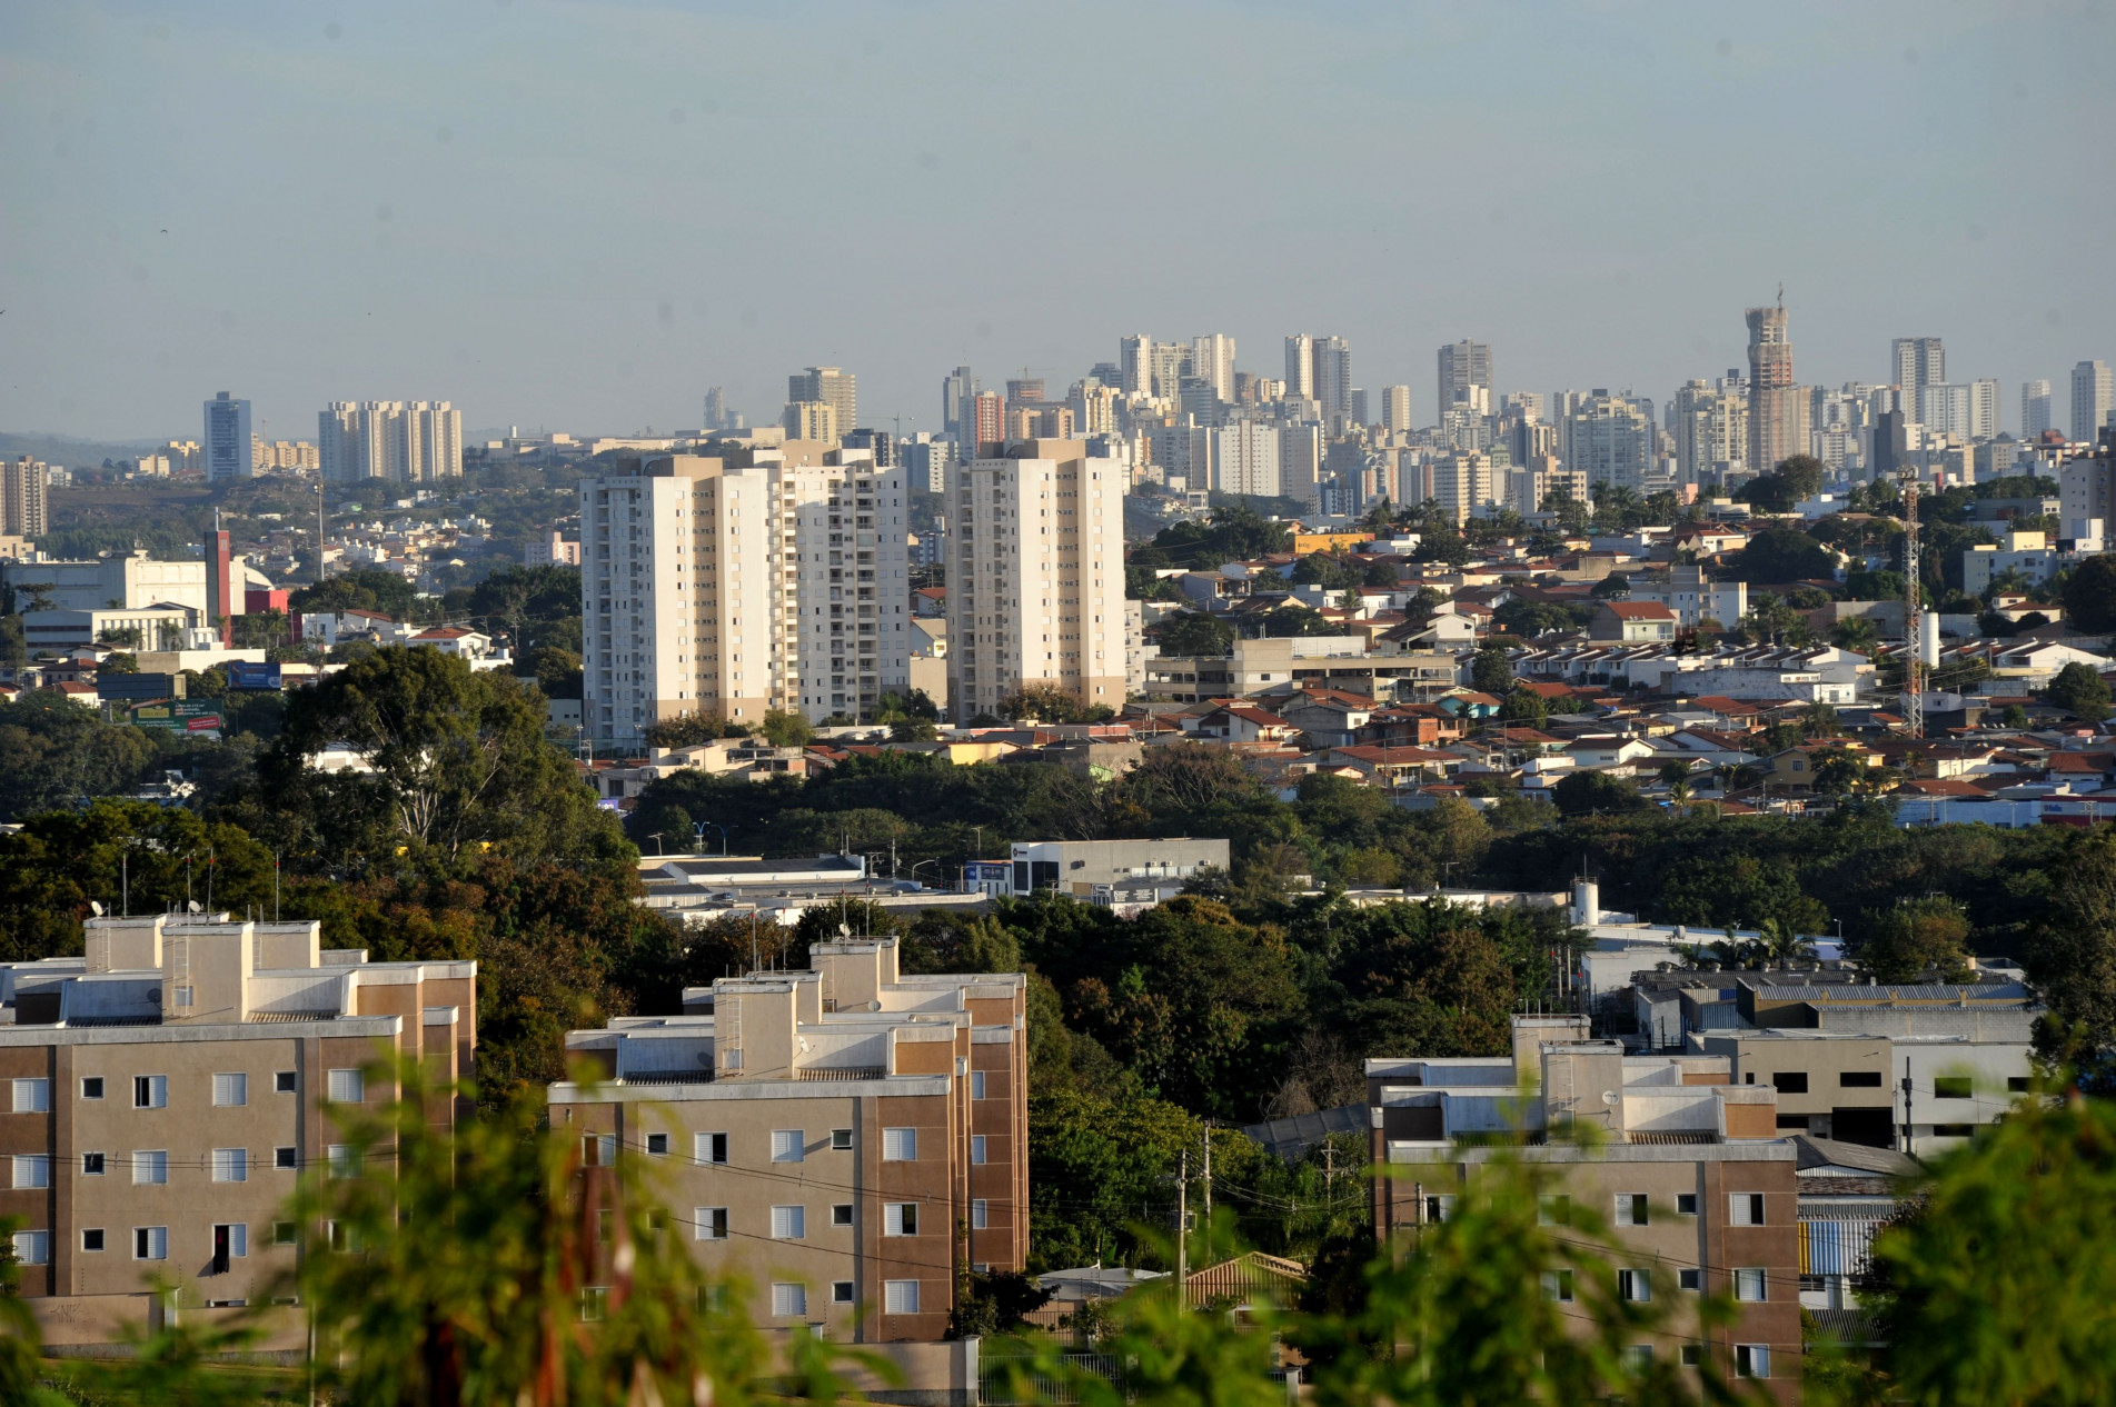
{"label": "narrower, right one of the two large cream mid-distance high-rises", "polygon": [[1022,688],[1124,707],[1124,487],[1083,440],[1018,440],[948,474],[948,707]]}

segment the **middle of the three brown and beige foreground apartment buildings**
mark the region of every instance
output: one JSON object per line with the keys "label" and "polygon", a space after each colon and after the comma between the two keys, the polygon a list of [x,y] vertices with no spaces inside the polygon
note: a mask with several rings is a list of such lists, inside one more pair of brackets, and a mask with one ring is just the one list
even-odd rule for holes
{"label": "middle of the three brown and beige foreground apartment buildings", "polygon": [[897,942],[726,977],[686,1016],[576,1030],[552,1128],[645,1183],[764,1327],[935,1341],[959,1272],[1028,1253],[1026,982],[908,975]]}

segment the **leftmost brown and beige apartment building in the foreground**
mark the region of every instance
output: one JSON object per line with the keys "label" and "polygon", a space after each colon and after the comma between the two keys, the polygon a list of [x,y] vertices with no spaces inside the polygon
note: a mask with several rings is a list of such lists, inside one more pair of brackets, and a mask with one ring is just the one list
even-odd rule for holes
{"label": "leftmost brown and beige apartment building in the foreground", "polygon": [[332,1104],[394,1098],[389,1054],[470,1077],[476,963],[364,958],[315,922],[159,914],[0,965],[0,1219],[47,1341],[154,1322],[154,1282],[256,1303],[300,1255],[296,1176],[349,1157]]}

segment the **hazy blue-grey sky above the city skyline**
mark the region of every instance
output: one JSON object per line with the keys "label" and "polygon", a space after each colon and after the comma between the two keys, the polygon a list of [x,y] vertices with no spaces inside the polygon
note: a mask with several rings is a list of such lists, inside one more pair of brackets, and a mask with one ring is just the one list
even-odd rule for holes
{"label": "hazy blue-grey sky above the city skyline", "polygon": [[1665,398],[1780,281],[1801,381],[2116,360],[2116,6],[0,4],[0,430],[273,438],[777,417],[842,364],[933,430],[969,362],[1117,339],[1494,345]]}

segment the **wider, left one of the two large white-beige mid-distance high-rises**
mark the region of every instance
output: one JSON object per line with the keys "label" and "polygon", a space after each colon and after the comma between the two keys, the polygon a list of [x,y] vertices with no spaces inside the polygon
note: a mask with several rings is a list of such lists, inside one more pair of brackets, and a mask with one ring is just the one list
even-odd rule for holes
{"label": "wider, left one of the two large white-beige mid-distance high-rises", "polygon": [[580,480],[580,516],[588,736],[872,717],[908,688],[901,465],[815,440],[622,461]]}

